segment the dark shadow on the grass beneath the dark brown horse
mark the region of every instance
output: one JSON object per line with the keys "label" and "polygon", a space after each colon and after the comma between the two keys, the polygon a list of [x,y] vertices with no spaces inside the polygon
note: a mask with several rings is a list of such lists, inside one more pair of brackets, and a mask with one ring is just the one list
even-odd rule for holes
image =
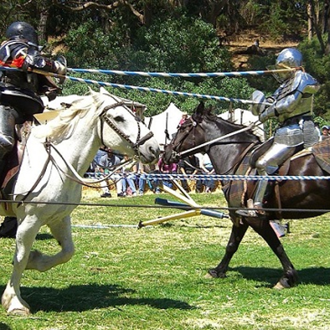
{"label": "dark shadow on the grass beneath the dark brown horse", "polygon": [[[266,268],[266,267],[246,267],[240,266],[229,268],[229,271],[240,273],[245,279],[254,280],[258,282],[269,281],[269,284],[260,286],[272,286],[276,283],[283,272],[280,268]],[[299,284],[315,284],[315,285],[329,285],[330,284],[330,268],[311,267],[297,270]]]}

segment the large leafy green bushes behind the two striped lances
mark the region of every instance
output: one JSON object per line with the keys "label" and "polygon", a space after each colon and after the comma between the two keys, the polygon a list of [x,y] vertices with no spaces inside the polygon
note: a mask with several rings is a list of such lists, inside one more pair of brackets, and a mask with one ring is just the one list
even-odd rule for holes
{"label": "large leafy green bushes behind the two striped lances", "polygon": [[[232,69],[230,53],[218,47],[214,28],[200,19],[182,16],[180,19],[158,20],[149,28],[141,27],[132,44],[125,44],[125,36],[119,30],[105,34],[93,21],[87,21],[71,29],[66,37],[69,47],[66,53],[72,67],[112,68],[147,72],[216,72]],[[194,38],[191,38],[194,35]],[[77,56],[79,54],[79,56]],[[93,61],[91,61],[93,58]],[[245,79],[182,79],[102,76],[83,74],[84,79],[109,81],[118,84],[143,86],[168,91],[179,91],[234,98],[247,98],[251,89]],[[101,78],[102,77],[102,78]],[[66,94],[79,94],[86,87],[65,86]],[[147,105],[146,116],[155,115],[168,107],[170,102],[180,109],[192,112],[198,100],[164,93],[137,90],[111,90],[128,99]],[[222,112],[228,103],[208,101]]]}

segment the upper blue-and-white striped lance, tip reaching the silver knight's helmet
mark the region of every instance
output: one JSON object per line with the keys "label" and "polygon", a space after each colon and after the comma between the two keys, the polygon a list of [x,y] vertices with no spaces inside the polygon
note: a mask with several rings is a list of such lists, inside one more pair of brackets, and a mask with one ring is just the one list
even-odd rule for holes
{"label": "upper blue-and-white striped lance, tip reaching the silver knight's helmet", "polygon": [[274,74],[297,70],[298,68],[277,69],[277,70],[254,70],[254,71],[231,71],[231,72],[196,72],[196,73],[167,73],[167,72],[144,72],[144,71],[122,71],[122,70],[105,70],[105,69],[79,69],[68,68],[68,72],[77,73],[102,73],[107,75],[120,76],[143,76],[143,77],[181,77],[181,78],[198,78],[198,77],[242,77],[242,76],[260,76],[265,74]]}

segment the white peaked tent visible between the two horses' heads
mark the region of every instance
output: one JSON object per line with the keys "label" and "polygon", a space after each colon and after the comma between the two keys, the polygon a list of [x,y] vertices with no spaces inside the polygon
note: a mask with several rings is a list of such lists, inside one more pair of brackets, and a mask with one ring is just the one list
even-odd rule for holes
{"label": "white peaked tent visible between the two horses' heads", "polygon": [[[150,127],[158,143],[164,145],[172,140],[172,135],[177,132],[177,127],[181,118],[182,111],[177,108],[174,103],[170,103],[165,111],[152,117],[145,117],[144,121],[145,124]],[[166,138],[166,129],[170,139]]]}

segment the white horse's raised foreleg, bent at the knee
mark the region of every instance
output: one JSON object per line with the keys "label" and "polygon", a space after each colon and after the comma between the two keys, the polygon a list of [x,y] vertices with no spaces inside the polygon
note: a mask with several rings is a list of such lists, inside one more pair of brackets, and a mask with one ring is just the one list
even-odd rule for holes
{"label": "white horse's raised foreleg, bent at the knee", "polygon": [[44,272],[56,265],[69,261],[74,254],[75,248],[71,235],[70,216],[66,216],[61,221],[49,223],[48,226],[61,250],[55,255],[46,255],[40,251],[32,251],[26,266],[27,269],[37,269]]}

